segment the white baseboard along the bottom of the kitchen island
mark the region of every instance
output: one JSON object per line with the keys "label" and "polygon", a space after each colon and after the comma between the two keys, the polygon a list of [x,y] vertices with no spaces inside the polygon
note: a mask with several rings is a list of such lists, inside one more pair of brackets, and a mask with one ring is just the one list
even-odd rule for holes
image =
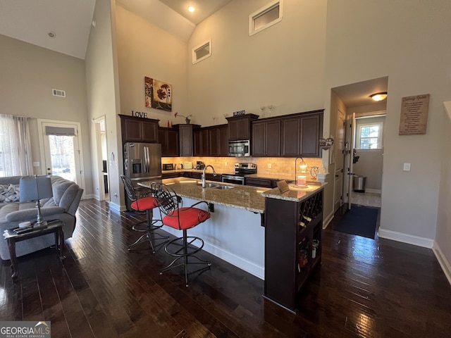
{"label": "white baseboard along the bottom of the kitchen island", "polygon": [[[174,230],[173,228],[166,226],[163,227],[163,230],[170,234],[173,234],[174,236],[180,237],[180,230]],[[226,251],[224,249],[219,248],[218,246],[206,242],[205,239],[203,250],[205,250],[208,253],[211,253],[212,255],[218,258],[221,258],[222,260],[232,265],[235,265],[237,268],[240,268],[241,270],[245,270],[247,273],[250,273],[255,277],[259,277],[261,280],[264,280],[265,278],[264,266],[257,265],[255,263],[252,263],[251,261],[247,261],[246,259],[240,256],[236,256],[234,253],[231,253],[230,251]]]}

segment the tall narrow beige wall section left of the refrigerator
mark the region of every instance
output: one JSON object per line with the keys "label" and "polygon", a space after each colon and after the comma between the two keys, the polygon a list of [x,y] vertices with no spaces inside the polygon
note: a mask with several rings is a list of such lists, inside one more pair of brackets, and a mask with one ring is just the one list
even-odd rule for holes
{"label": "tall narrow beige wall section left of the refrigerator", "polygon": [[[111,208],[125,205],[123,187],[119,175],[122,173],[121,126],[118,109],[118,76],[115,50],[114,4],[110,0],[97,0],[86,53],[86,82],[89,121],[105,116],[106,148],[108,154],[109,196]],[[92,140],[96,139],[95,124],[89,126]],[[98,168],[101,168],[101,151],[97,152],[95,142],[91,144],[92,173],[95,196],[99,198]],[[114,154],[114,161],[111,154]]]}

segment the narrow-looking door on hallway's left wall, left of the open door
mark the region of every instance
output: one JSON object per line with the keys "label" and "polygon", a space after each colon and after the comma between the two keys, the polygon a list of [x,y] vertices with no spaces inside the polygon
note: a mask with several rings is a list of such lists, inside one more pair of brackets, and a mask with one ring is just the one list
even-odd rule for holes
{"label": "narrow-looking door on hallway's left wall, left of the open door", "polygon": [[345,113],[338,108],[337,128],[335,132],[335,194],[333,212],[343,204],[343,150],[345,149]]}

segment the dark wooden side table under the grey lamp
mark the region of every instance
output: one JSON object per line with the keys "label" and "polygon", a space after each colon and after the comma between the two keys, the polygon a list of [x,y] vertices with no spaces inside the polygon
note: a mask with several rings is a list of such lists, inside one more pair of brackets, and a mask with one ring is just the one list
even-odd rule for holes
{"label": "dark wooden side table under the grey lamp", "polygon": [[[28,227],[18,229],[7,229],[4,231],[4,237],[8,241],[9,256],[11,257],[11,270],[13,270],[12,278],[18,276],[18,264],[16,258],[16,242],[25,241],[25,239],[44,236],[44,234],[55,234],[55,246],[58,251],[58,256],[62,262],[65,258],[63,255],[64,250],[64,223],[61,220],[51,220],[47,225],[39,227]],[[16,230],[16,231],[14,231]]]}

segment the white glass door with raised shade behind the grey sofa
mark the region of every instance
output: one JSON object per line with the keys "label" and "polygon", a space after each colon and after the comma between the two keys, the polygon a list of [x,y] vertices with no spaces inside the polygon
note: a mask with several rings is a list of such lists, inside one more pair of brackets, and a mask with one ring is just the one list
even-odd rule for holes
{"label": "white glass door with raised shade behind the grey sofa", "polygon": [[42,172],[66,178],[84,189],[80,124],[38,120],[38,128],[41,158],[44,159]]}

